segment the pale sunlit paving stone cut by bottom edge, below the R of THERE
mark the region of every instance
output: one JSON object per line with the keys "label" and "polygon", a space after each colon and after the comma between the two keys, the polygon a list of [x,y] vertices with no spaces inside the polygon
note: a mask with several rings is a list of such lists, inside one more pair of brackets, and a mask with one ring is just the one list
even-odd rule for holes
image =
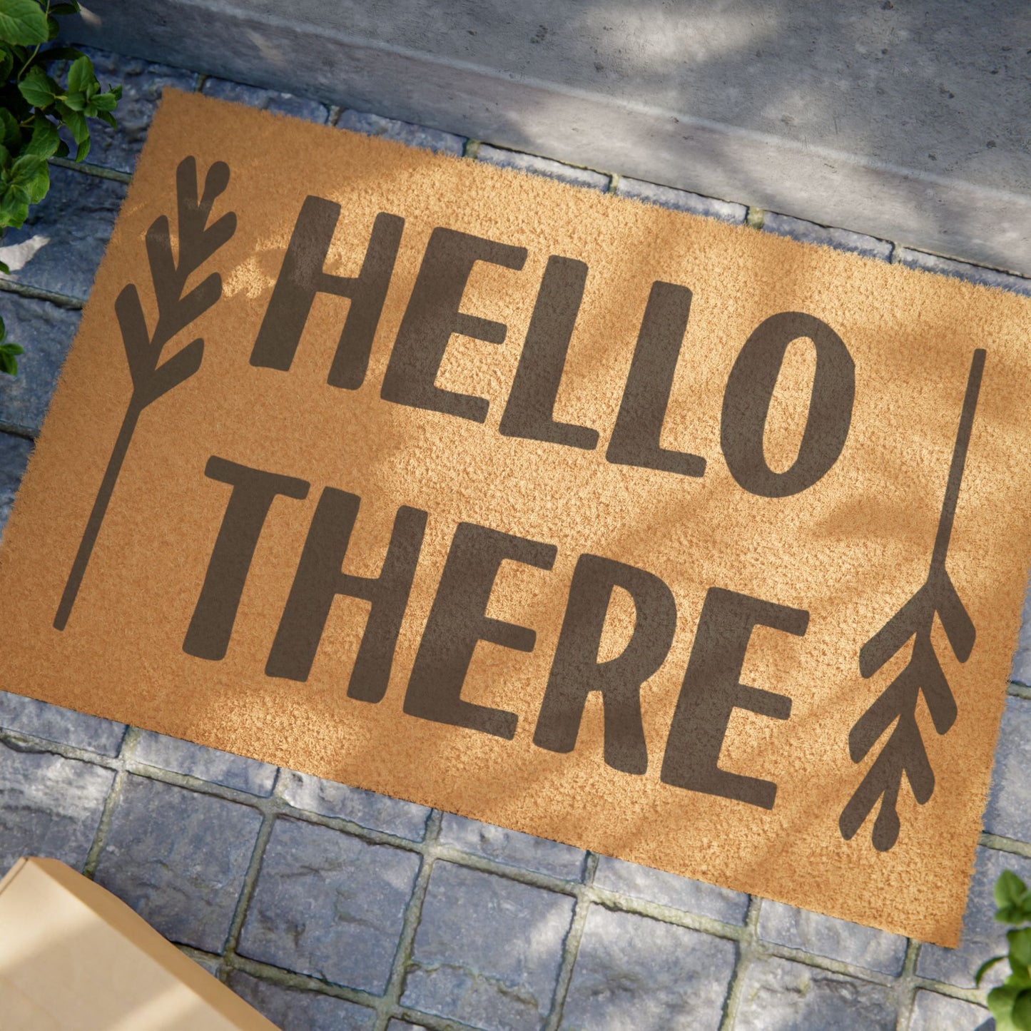
{"label": "pale sunlit paving stone cut by bottom edge, below the R of THERE", "polygon": [[564,1031],[717,1031],[737,950],[646,917],[591,906]]}

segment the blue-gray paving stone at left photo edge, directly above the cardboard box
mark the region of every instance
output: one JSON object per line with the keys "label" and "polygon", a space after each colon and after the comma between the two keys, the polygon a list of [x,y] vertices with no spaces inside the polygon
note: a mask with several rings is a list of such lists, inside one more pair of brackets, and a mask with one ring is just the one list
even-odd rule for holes
{"label": "blue-gray paving stone at left photo edge, directly above the cardboard box", "polygon": [[114,772],[0,741],[0,876],[22,856],[82,868]]}

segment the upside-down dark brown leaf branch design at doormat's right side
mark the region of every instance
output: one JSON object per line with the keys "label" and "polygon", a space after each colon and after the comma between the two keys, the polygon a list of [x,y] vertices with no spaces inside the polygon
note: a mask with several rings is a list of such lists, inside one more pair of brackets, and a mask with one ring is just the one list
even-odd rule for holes
{"label": "upside-down dark brown leaf branch design at doormat's right side", "polygon": [[896,805],[903,774],[921,805],[934,792],[934,771],[917,724],[917,704],[921,695],[927,703],[931,722],[938,734],[947,733],[956,722],[956,699],[931,642],[934,617],[937,616],[941,621],[953,654],[960,662],[966,662],[970,658],[976,637],[973,621],[945,570],[945,557],[956,520],[956,504],[977,407],[985,354],[978,347],[970,364],[959,431],[949,470],[949,484],[927,579],[859,652],[859,671],[864,677],[870,677],[912,640],[912,651],[905,668],[856,721],[849,734],[849,754],[854,763],[861,763],[885,731],[892,724],[895,725],[880,754],[874,759],[838,821],[841,836],[845,840],[851,839],[880,799],[872,832],[873,846],[878,852],[887,852],[898,840],[899,818]]}

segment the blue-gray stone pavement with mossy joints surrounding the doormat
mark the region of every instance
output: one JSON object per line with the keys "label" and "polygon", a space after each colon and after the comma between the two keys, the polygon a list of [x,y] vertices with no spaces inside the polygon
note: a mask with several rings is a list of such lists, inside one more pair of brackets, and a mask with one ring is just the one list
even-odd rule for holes
{"label": "blue-gray stone pavement with mossy joints surrounding the doormat", "polygon": [[[523,168],[758,231],[1031,294],[1031,281],[740,204],[317,101],[94,54],[118,133],[4,240],[0,527],[164,86]],[[949,951],[0,692],[0,875],[56,856],[287,1031],[993,1026],[992,885],[1031,878],[1031,607],[963,945]],[[2,679],[0,679],[2,683]],[[1001,974],[999,975],[1001,977]],[[995,982],[992,982],[995,983]]]}

